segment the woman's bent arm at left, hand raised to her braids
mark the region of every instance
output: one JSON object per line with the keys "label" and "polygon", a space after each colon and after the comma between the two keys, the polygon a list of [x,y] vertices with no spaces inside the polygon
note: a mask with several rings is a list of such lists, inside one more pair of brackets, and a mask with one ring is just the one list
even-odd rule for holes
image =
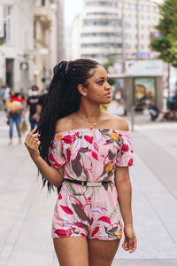
{"label": "woman's bent arm at left, hand raised to her braids", "polygon": [[42,159],[39,153],[39,134],[35,134],[35,129],[33,129],[26,138],[25,145],[27,146],[27,150],[34,160],[35,165],[39,169],[42,176],[50,182],[50,184],[59,187],[63,182],[64,176],[64,168],[52,168],[45,160]]}

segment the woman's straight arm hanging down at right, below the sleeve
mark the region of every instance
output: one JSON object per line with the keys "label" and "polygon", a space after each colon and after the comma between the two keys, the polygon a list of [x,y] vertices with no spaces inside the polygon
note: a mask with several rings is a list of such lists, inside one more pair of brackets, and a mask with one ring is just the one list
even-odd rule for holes
{"label": "woman's straight arm hanging down at right, below the sleeve", "polygon": [[131,208],[132,188],[127,167],[116,168],[115,185],[119,197],[119,207],[124,221],[125,240],[122,247],[126,251],[129,250],[129,253],[133,253],[136,249],[136,237]]}

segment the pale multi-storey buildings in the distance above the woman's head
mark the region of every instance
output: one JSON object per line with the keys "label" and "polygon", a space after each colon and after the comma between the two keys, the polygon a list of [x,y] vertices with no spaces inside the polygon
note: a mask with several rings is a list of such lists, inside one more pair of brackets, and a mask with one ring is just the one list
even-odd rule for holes
{"label": "pale multi-storey buildings in the distance above the woman's head", "polygon": [[144,0],[84,0],[73,20],[72,58],[105,63],[116,59],[149,59],[150,33],[158,24],[158,6]]}

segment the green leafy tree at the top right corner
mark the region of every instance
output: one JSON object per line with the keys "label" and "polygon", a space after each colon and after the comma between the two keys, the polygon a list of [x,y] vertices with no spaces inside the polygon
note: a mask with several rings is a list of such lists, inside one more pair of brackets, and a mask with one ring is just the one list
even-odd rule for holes
{"label": "green leafy tree at the top right corner", "polygon": [[159,11],[161,19],[156,27],[159,35],[150,46],[159,52],[159,59],[177,67],[177,0],[165,0]]}

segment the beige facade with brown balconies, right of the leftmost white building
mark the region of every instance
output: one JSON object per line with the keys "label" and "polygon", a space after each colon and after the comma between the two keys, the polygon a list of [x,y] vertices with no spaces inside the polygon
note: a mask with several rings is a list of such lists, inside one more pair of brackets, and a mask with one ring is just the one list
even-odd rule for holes
{"label": "beige facade with brown balconies, right of the leftmost white building", "polygon": [[57,6],[55,1],[35,1],[34,82],[40,90],[50,82],[51,66],[57,58]]}

